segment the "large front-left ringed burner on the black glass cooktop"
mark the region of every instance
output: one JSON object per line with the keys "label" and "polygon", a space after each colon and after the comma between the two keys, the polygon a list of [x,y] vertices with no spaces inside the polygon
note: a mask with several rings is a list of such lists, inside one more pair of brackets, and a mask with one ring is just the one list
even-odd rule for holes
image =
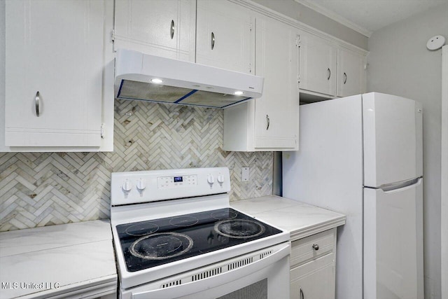
{"label": "large front-left ringed burner on the black glass cooktop", "polygon": [[177,232],[160,232],[141,237],[130,247],[133,256],[145,260],[165,260],[181,256],[193,247],[193,239]]}

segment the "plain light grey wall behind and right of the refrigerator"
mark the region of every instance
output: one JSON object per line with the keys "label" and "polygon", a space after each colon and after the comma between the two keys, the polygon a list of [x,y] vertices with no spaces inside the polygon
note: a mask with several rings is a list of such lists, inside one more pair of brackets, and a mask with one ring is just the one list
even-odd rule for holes
{"label": "plain light grey wall behind and right of the refrigerator", "polygon": [[425,298],[440,298],[441,50],[430,37],[448,38],[448,3],[379,29],[369,39],[367,90],[423,104],[423,221]]}

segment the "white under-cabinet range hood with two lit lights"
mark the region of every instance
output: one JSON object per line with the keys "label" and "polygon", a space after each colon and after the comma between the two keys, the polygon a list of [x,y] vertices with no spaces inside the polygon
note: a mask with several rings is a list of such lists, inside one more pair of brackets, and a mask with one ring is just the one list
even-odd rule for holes
{"label": "white under-cabinet range hood with two lit lights", "polygon": [[261,97],[263,78],[118,49],[117,99],[227,108]]}

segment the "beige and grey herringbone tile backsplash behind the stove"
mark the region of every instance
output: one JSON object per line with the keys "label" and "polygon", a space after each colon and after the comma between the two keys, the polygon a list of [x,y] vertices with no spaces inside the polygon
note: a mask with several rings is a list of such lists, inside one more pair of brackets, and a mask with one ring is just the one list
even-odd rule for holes
{"label": "beige and grey herringbone tile backsplash behind the stove", "polygon": [[230,200],[272,194],[272,152],[223,151],[223,111],[135,101],[115,109],[112,153],[0,153],[0,231],[109,218],[111,172],[227,166]]}

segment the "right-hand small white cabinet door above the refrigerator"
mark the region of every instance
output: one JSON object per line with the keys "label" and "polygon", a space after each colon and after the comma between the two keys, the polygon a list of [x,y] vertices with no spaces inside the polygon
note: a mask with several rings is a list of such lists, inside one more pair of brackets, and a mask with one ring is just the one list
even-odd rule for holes
{"label": "right-hand small white cabinet door above the refrigerator", "polygon": [[365,90],[365,56],[339,48],[337,50],[337,95],[358,95]]}

